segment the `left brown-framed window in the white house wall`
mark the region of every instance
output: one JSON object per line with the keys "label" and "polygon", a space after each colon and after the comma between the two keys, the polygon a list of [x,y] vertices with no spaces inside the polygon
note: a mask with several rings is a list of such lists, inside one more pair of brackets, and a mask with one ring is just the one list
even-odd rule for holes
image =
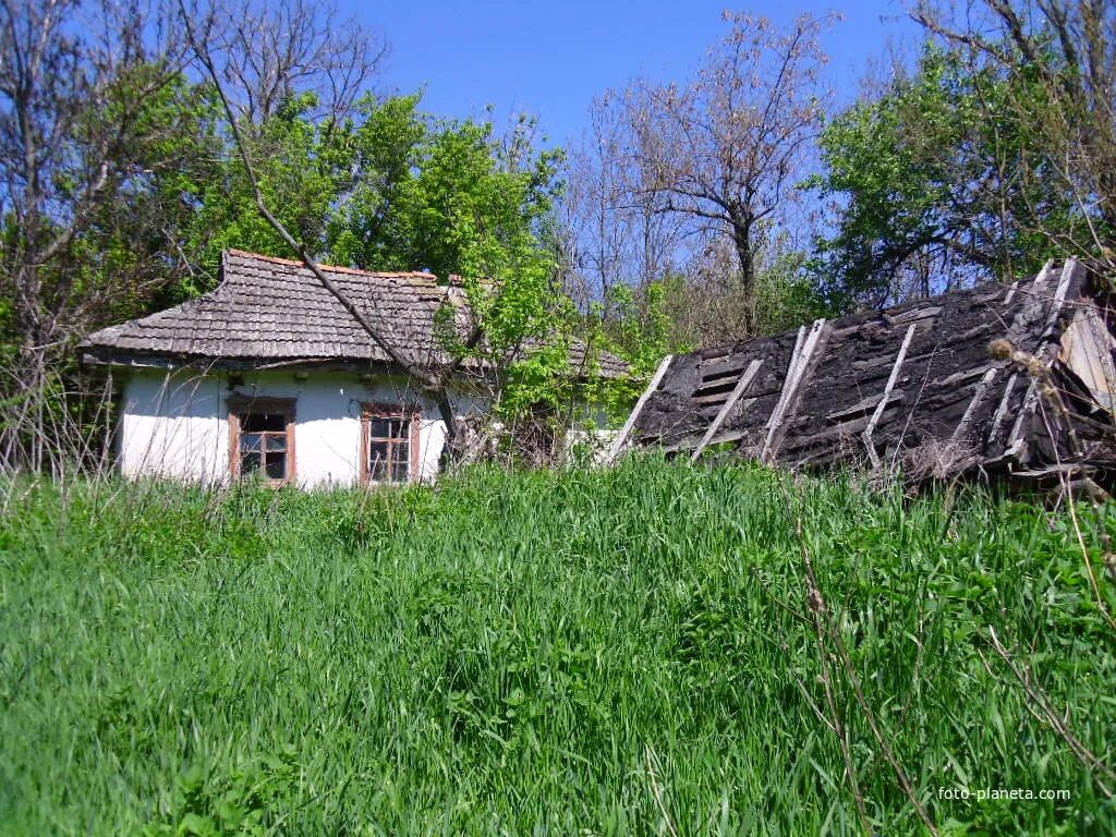
{"label": "left brown-framed window in the white house wall", "polygon": [[295,478],[295,400],[229,400],[233,477],[281,485]]}

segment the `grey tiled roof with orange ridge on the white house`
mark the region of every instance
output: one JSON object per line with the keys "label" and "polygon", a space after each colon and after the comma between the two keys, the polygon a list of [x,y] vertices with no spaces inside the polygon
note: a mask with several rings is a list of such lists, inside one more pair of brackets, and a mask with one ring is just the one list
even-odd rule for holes
{"label": "grey tiled roof with orange ridge on the white house", "polygon": [[[400,356],[416,367],[450,358],[440,339],[439,312],[465,338],[472,314],[465,292],[440,285],[424,272],[373,272],[323,266],[341,294],[373,324]],[[391,358],[301,261],[228,250],[217,289],[189,302],[104,328],[80,345],[87,364],[134,364],[144,358],[181,362],[389,364]],[[579,372],[588,359],[580,343],[570,346]],[[626,365],[607,353],[591,358],[597,372],[617,377]]]}

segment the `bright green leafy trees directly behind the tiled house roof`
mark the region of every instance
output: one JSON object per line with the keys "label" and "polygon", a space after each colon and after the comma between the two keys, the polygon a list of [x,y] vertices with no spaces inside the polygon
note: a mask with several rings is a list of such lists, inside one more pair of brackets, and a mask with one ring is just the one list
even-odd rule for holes
{"label": "bright green leafy trees directly behind the tiled house roof", "polygon": [[[257,177],[279,220],[330,263],[464,276],[484,339],[451,340],[449,311],[441,330],[459,354],[504,371],[500,408],[514,417],[566,397],[561,349],[574,318],[546,246],[561,153],[536,148],[526,117],[498,135],[490,122],[424,116],[416,96],[368,97],[344,123],[311,118],[316,105],[291,99],[253,135]],[[231,247],[297,257],[258,211],[232,147],[192,200],[186,249],[209,277]]]}

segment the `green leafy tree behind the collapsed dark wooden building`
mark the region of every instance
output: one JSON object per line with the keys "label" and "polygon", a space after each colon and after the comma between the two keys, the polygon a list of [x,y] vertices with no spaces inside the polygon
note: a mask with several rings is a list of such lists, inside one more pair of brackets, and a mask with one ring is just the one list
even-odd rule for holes
{"label": "green leafy tree behind the collapsed dark wooden building", "polygon": [[1031,142],[1043,98],[1027,74],[973,70],[927,47],[912,77],[833,119],[826,172],[809,183],[835,204],[815,264],[835,301],[883,299],[905,271],[940,282],[1041,264],[1050,232],[1076,223],[1065,183]]}

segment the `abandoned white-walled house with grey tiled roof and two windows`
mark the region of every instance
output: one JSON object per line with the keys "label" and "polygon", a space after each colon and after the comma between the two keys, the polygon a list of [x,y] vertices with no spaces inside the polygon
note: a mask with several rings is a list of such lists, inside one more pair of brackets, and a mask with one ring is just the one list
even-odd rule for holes
{"label": "abandoned white-walled house with grey tiled roof and two windows", "polygon": [[[430,273],[323,270],[413,367],[449,363],[446,312],[459,335],[471,330],[464,290]],[[304,487],[434,478],[448,431],[436,400],[302,262],[230,250],[221,273],[215,290],[80,345],[83,365],[118,393],[124,474]],[[586,372],[584,347],[570,362]],[[607,354],[593,364],[605,377],[626,372]],[[452,415],[488,411],[490,372],[462,365],[448,387]]]}

